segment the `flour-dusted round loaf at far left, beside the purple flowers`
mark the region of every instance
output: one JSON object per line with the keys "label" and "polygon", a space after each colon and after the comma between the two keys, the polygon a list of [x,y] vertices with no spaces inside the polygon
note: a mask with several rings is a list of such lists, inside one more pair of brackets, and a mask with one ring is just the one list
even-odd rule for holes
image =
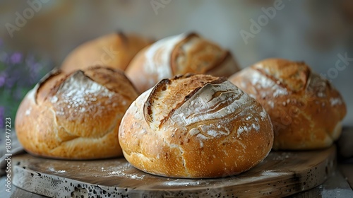
{"label": "flour-dusted round loaf at far left, beside the purple flowers", "polygon": [[121,156],[121,118],[138,94],[122,71],[95,67],[53,71],[23,99],[16,133],[37,156],[94,159]]}

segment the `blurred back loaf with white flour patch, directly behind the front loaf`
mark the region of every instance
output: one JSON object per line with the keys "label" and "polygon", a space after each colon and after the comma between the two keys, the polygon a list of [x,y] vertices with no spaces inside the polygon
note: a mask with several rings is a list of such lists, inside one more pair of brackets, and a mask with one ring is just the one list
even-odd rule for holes
{"label": "blurred back loaf with white flour patch, directly behind the front loaf", "polygon": [[136,54],[126,69],[142,93],[162,80],[179,74],[230,76],[239,71],[237,62],[227,50],[191,34],[166,37]]}

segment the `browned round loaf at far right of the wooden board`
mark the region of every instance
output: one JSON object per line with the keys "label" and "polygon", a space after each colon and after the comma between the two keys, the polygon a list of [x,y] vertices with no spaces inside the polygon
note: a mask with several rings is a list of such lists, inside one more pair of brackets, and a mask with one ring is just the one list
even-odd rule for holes
{"label": "browned round loaf at far right of the wooden board", "polygon": [[304,62],[265,59],[229,81],[265,107],[273,122],[275,149],[325,148],[340,136],[345,102]]}

